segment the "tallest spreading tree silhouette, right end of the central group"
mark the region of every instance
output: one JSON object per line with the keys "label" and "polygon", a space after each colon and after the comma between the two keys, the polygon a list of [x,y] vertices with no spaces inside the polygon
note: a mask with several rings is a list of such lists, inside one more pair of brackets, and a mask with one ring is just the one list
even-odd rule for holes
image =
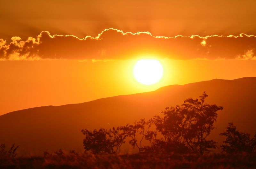
{"label": "tallest spreading tree silhouette, right end of the central group", "polygon": [[203,92],[199,100],[188,98],[181,106],[165,108],[163,117],[154,116],[152,122],[156,125],[156,130],[163,135],[163,139],[158,142],[165,144],[171,151],[186,152],[186,149],[189,149],[193,153],[203,154],[211,148],[216,148],[216,142],[207,140],[207,137],[214,129],[217,111],[223,107],[206,104],[207,96]]}

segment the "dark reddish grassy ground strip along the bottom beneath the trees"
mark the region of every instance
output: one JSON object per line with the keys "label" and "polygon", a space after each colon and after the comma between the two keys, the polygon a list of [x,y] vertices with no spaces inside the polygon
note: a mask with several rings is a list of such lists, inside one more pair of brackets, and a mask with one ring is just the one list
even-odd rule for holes
{"label": "dark reddish grassy ground strip along the bottom beneath the trees", "polygon": [[229,169],[256,168],[256,154],[195,155],[78,155],[45,154],[43,157],[16,157],[0,159],[1,169]]}

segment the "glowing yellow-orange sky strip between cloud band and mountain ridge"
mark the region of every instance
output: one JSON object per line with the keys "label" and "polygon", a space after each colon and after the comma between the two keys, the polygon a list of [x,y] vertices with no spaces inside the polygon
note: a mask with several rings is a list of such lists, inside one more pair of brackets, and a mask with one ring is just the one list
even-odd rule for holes
{"label": "glowing yellow-orange sky strip between cloud band and mountain ridge", "polygon": [[171,84],[256,76],[255,60],[158,59],[163,65],[163,77],[156,84],[146,86],[133,77],[132,68],[137,60],[1,61],[0,114],[141,93]]}

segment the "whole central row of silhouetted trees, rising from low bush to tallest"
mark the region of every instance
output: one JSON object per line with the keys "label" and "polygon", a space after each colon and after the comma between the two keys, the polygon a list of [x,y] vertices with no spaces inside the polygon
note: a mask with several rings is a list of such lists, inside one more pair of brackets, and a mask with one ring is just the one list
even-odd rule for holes
{"label": "whole central row of silhouetted trees, rising from low bush to tallest", "polygon": [[[125,138],[130,138],[129,143],[133,148],[141,151],[165,151],[175,153],[198,153],[210,152],[216,148],[216,142],[207,140],[214,129],[213,123],[217,119],[217,111],[222,106],[206,104],[208,95],[203,92],[199,99],[188,98],[182,105],[165,108],[163,116],[154,116],[146,121],[140,119],[132,125],[113,127],[112,129],[100,128],[89,131],[82,130],[85,135],[84,149],[94,154],[117,153],[120,146],[125,143]],[[149,130],[152,125],[154,131]],[[157,134],[161,136],[157,138]],[[143,139],[150,142],[150,146],[143,146]],[[255,139],[256,140],[256,139]],[[255,143],[256,144],[256,141]]]}

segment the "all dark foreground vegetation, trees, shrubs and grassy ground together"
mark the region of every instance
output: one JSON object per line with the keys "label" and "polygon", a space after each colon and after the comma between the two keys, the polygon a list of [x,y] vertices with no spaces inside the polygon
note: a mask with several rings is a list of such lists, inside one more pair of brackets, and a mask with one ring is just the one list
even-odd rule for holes
{"label": "all dark foreground vegetation, trees, shrubs and grassy ground together", "polygon": [[[61,149],[44,156],[16,157],[13,144],[7,150],[0,145],[0,168],[48,169],[169,169],[169,168],[256,168],[256,134],[239,132],[233,123],[228,123],[226,139],[220,146],[222,153],[211,151],[217,148],[208,136],[215,128],[217,111],[222,106],[205,103],[204,92],[199,99],[188,98],[182,105],[167,107],[162,116],[146,121],[140,119],[133,124],[100,128],[82,133],[83,154],[74,150],[65,153]],[[150,144],[142,145],[146,140]],[[135,154],[122,154],[120,147],[128,142],[138,150]]]}

